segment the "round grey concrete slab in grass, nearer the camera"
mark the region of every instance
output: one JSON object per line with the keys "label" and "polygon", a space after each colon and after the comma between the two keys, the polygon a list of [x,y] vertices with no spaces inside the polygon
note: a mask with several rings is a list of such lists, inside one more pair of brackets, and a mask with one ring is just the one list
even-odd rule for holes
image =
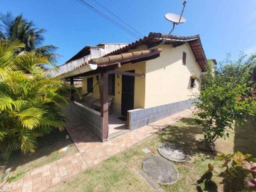
{"label": "round grey concrete slab in grass, nearer the camera", "polygon": [[174,165],[160,156],[148,156],[142,162],[142,169],[159,184],[173,184],[179,178]]}

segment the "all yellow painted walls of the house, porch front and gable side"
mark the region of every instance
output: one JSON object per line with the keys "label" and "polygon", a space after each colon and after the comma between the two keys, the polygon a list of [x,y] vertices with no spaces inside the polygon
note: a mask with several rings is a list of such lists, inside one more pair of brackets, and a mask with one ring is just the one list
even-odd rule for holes
{"label": "all yellow painted walls of the house, porch front and gable side", "polygon": [[[121,66],[122,71],[135,70],[135,73],[146,74],[144,78],[135,77],[134,108],[150,108],[172,102],[187,100],[192,93],[200,90],[200,82],[196,80],[196,87],[190,88],[191,76],[199,77],[201,68],[188,43],[173,48],[172,45],[162,47],[160,57],[139,63],[128,63]],[[129,52],[146,50],[146,46],[138,46]],[[186,52],[186,65],[182,65],[182,54]],[[100,78],[100,74],[99,78]],[[88,76],[91,77],[91,76]],[[83,77],[82,92],[87,92],[87,78]],[[96,84],[96,75],[93,84]],[[100,98],[99,87],[88,96]],[[115,96],[113,102],[114,113],[121,114],[122,75],[115,78]]]}

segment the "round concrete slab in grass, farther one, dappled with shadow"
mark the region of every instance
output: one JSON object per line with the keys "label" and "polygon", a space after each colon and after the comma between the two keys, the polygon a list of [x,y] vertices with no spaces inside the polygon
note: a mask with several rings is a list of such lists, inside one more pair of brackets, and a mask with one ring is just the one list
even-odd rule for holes
{"label": "round concrete slab in grass, farther one, dappled with shadow", "polygon": [[160,144],[158,146],[158,152],[164,158],[175,161],[175,162],[184,162],[187,160],[185,152],[176,144]]}

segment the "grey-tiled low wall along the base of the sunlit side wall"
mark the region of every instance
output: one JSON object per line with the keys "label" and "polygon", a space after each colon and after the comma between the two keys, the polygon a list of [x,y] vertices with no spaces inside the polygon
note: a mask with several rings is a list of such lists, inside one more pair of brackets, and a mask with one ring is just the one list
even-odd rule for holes
{"label": "grey-tiled low wall along the base of the sunlit side wall", "polygon": [[194,106],[195,99],[160,105],[146,109],[134,109],[128,111],[127,125],[130,130],[143,127],[152,122],[166,118],[187,108]]}

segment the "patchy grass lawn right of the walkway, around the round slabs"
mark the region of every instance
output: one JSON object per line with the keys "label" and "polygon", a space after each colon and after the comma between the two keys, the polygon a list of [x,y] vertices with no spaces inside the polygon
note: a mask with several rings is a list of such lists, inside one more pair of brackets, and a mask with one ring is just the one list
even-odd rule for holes
{"label": "patchy grass lawn right of the walkway, around the round slabs", "polygon": [[[159,185],[168,192],[229,192],[243,189],[243,184],[236,181],[233,184],[224,182],[219,173],[223,171],[221,162],[214,160],[218,152],[233,153],[241,151],[256,156],[256,130],[251,122],[235,127],[230,138],[219,139],[216,142],[216,154],[208,154],[200,150],[200,140],[203,135],[193,116],[169,126],[158,134],[132,146],[131,148],[112,156],[72,179],[50,188],[48,192],[151,192],[154,191],[136,174],[142,170],[142,161],[149,155],[158,156],[157,147],[160,142],[174,142],[182,146],[190,160],[185,163],[173,163],[180,173],[178,182],[172,185]],[[149,154],[142,149],[151,150]],[[206,173],[208,163],[214,164],[214,172]]]}

